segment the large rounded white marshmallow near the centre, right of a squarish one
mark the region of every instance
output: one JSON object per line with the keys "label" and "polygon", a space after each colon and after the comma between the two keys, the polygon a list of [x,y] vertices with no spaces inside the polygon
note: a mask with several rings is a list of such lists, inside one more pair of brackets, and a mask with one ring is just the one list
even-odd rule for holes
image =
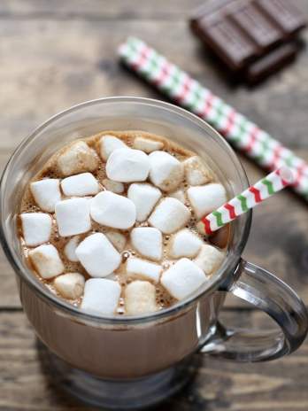
{"label": "large rounded white marshmallow near the centre, right of a squarish one", "polygon": [[113,229],[129,229],[135,224],[135,204],[112,191],[102,191],[90,200],[94,221]]}

